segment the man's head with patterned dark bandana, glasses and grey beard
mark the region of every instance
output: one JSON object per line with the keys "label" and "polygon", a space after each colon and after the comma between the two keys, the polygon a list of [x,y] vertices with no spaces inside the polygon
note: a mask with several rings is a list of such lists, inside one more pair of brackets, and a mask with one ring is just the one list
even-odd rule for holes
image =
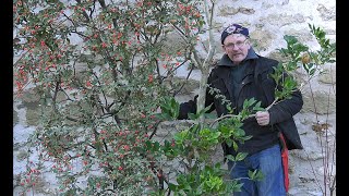
{"label": "man's head with patterned dark bandana, glasses and grey beard", "polygon": [[234,63],[240,63],[244,60],[251,48],[249,29],[238,24],[231,24],[225,28],[221,33],[220,41],[222,49]]}

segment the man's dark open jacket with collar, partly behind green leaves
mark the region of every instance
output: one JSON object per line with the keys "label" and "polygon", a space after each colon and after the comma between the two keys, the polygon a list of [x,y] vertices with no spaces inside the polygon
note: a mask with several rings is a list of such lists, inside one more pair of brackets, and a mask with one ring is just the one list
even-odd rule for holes
{"label": "man's dark open jacket with collar, partly behind green leaves", "polygon": [[[278,65],[278,62],[273,59],[256,56],[253,50],[249,53],[252,54],[249,54],[248,57],[250,58],[246,58],[246,60],[244,60],[243,62],[245,64],[245,68],[242,71],[243,77],[240,84],[233,85],[233,83],[231,82],[231,71],[234,68],[232,66],[232,62],[226,54],[222,57],[218,65],[216,65],[212,70],[207,79],[208,85],[219,89],[220,94],[225,95],[227,99],[230,100],[230,102],[232,103],[232,108],[236,109],[236,113],[241,110],[242,102],[245,99],[250,98],[251,95],[253,95],[256,100],[261,101],[262,107],[264,108],[269,106],[275,99],[274,96],[276,83],[269,76],[269,74],[274,72],[273,66]],[[188,113],[196,112],[196,98],[197,96],[194,98],[194,100],[190,100],[180,105],[179,119],[188,119]],[[216,110],[218,117],[224,115],[228,112],[226,106],[222,103],[221,98],[215,98],[215,94],[210,95],[207,88],[205,105],[209,106],[210,103],[214,105],[212,106],[209,112]],[[282,132],[288,149],[303,148],[296,123],[292,118],[301,110],[302,106],[302,95],[299,90],[297,90],[292,93],[290,99],[282,100],[268,110],[270,115],[268,127],[274,132]],[[249,123],[252,124],[251,122]],[[256,123],[256,121],[254,123]],[[260,126],[260,128],[262,126]],[[261,138],[255,143],[261,143],[261,140],[263,142],[265,139],[268,139],[263,138],[263,136],[261,136]],[[253,137],[251,139],[253,139]],[[273,139],[275,140],[275,136]],[[222,148],[225,150],[225,154],[227,155],[226,144],[222,144]]]}

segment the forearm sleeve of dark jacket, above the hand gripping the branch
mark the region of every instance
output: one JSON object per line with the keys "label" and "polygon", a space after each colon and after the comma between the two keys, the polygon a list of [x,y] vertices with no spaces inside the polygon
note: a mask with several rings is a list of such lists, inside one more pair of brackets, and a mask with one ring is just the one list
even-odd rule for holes
{"label": "forearm sleeve of dark jacket, above the hand gripping the branch", "polygon": [[268,111],[270,124],[276,124],[291,119],[303,107],[302,94],[299,89],[292,91],[289,99],[284,99],[274,105]]}

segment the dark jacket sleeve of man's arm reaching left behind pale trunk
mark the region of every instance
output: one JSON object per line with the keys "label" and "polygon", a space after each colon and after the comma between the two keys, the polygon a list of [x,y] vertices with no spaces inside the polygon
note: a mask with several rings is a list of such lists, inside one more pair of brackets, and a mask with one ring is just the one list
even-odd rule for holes
{"label": "dark jacket sleeve of man's arm reaching left behind pale trunk", "polygon": [[[207,78],[208,85],[212,82],[212,77],[213,77],[213,72],[209,73],[209,76]],[[209,91],[208,88],[206,88],[205,107],[208,107],[214,102],[214,96],[210,95],[208,91]],[[178,120],[189,119],[188,113],[196,113],[197,97],[198,95],[196,95],[193,100],[189,100],[186,102],[180,103]],[[210,109],[207,112],[212,112],[213,110],[215,110],[215,105],[212,105]]]}

